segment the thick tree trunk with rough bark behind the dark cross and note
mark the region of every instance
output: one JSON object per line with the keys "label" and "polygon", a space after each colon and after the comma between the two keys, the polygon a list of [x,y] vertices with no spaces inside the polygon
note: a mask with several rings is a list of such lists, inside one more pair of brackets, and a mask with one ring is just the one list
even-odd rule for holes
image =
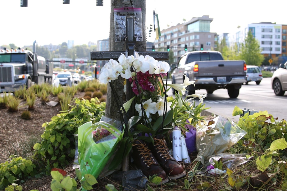
{"label": "thick tree trunk with rough bark behind the dark cross and note", "polygon": [[[127,3],[130,1],[126,0],[111,0],[111,19],[110,19],[110,40],[109,40],[109,51],[125,51],[126,50],[126,44],[125,42],[115,42],[115,22],[114,22],[114,8],[121,8],[124,7],[123,3]],[[142,42],[136,42],[135,44],[135,51],[146,51],[146,25],[145,25],[145,15],[146,15],[146,0],[133,0],[133,6],[135,8],[141,8],[142,11],[142,24],[143,24],[143,41]],[[124,85],[123,85],[123,79],[120,77],[114,82],[115,89],[119,94],[120,100],[123,100],[125,102],[126,98],[124,95]],[[116,104],[116,97],[112,94],[112,89],[110,86],[108,86],[107,89],[107,102],[106,102],[106,110],[105,115],[108,118],[117,119],[120,120],[119,116],[119,109]],[[134,106],[131,106],[134,107]],[[124,158],[122,163],[123,171],[127,171],[129,168],[129,156]]]}

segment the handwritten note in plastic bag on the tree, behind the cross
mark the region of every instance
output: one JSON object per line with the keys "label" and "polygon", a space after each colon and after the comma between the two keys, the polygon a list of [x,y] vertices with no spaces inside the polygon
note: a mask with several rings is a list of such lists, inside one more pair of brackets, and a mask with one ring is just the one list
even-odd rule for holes
{"label": "handwritten note in plastic bag on the tree, behind the cross", "polygon": [[134,36],[143,41],[143,24],[141,8],[122,7],[114,9],[115,42],[124,42],[126,38],[126,17],[134,16]]}

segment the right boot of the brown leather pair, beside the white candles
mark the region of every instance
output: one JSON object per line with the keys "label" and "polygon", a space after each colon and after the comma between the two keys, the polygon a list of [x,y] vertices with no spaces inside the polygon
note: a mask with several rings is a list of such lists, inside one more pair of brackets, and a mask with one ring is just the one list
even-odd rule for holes
{"label": "right boot of the brown leather pair, beside the white candles", "polygon": [[174,180],[186,175],[183,166],[169,153],[163,135],[156,135],[153,140],[154,146],[150,146],[149,148],[152,150],[157,162],[159,162],[167,176],[171,180]]}

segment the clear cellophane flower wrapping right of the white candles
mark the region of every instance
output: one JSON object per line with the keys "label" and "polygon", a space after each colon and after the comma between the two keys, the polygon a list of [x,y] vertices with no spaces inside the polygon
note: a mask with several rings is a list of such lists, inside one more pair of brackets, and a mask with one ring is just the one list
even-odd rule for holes
{"label": "clear cellophane flower wrapping right of the white candles", "polygon": [[224,153],[226,149],[236,144],[246,135],[246,131],[221,116],[214,118],[213,121],[214,123],[210,126],[202,124],[196,128],[198,155],[194,161],[200,161],[203,165],[208,164],[210,156]]}

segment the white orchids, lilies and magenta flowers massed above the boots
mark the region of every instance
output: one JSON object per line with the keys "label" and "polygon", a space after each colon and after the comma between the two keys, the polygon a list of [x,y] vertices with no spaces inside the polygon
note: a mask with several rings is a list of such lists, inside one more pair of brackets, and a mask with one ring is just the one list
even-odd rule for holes
{"label": "white orchids, lilies and magenta flowers massed above the boots", "polygon": [[[164,84],[163,78],[167,76],[169,70],[170,66],[167,62],[157,61],[151,56],[142,56],[137,52],[134,52],[134,56],[127,57],[121,54],[118,62],[110,59],[102,67],[99,80],[105,84],[109,83],[114,94],[113,81],[120,76],[125,80],[124,92],[129,89],[126,85],[130,84],[134,93],[130,100],[120,106],[122,115],[126,115],[131,106],[134,107],[135,112],[134,116],[126,117],[129,121],[124,126],[122,149],[117,152],[121,156],[115,158],[121,158],[130,152],[133,139],[153,142],[155,135],[164,135],[175,126],[184,128],[189,118],[201,119],[198,116],[203,110],[201,102],[206,94],[188,95],[183,100],[181,96],[184,95],[185,88],[194,85],[194,81],[189,81],[189,78],[184,76],[183,84],[167,84],[167,80]],[[167,98],[166,93],[170,88],[178,92],[175,98]],[[200,99],[198,107],[194,107],[194,102],[189,102],[196,97]],[[117,160],[117,162],[121,161]],[[116,165],[118,163],[115,167]]]}

